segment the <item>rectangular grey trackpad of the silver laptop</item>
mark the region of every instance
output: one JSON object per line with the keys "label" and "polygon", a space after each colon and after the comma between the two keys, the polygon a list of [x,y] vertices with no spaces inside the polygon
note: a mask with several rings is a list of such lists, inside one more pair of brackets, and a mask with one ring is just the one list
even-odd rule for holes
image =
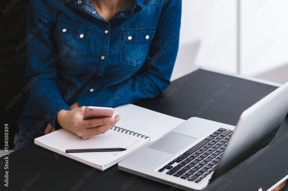
{"label": "rectangular grey trackpad of the silver laptop", "polygon": [[197,138],[195,137],[171,132],[149,145],[148,148],[153,148],[169,154],[175,154],[196,139]]}

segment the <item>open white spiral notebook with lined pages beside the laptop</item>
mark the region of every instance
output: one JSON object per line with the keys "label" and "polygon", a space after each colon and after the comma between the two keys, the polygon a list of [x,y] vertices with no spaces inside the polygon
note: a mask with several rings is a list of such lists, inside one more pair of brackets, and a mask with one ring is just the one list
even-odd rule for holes
{"label": "open white spiral notebook with lined pages beside the laptop", "polygon": [[[35,138],[34,143],[54,153],[94,167],[100,171],[105,171],[145,146],[149,141],[158,139],[185,121],[132,104],[116,107],[114,113],[114,115],[121,115],[121,122],[118,121],[116,126],[104,134],[82,139],[64,129],[60,129]],[[119,147],[126,148],[127,150],[89,153],[65,152],[67,149]]]}

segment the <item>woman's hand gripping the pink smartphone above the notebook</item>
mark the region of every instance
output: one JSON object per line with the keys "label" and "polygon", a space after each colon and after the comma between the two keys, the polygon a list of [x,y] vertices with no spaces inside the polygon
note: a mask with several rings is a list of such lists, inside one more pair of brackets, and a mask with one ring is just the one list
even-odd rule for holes
{"label": "woman's hand gripping the pink smartphone above the notebook", "polygon": [[73,109],[71,111],[59,111],[56,119],[59,125],[84,139],[100,135],[111,129],[119,120],[120,115],[113,117],[103,117],[98,119],[83,119],[86,106]]}

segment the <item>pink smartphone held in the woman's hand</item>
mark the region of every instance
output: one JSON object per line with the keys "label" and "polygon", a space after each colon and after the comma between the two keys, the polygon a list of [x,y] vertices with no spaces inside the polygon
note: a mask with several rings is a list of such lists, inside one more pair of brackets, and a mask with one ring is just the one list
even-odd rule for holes
{"label": "pink smartphone held in the woman's hand", "polygon": [[93,107],[87,106],[83,119],[96,119],[102,117],[112,117],[114,109],[111,107]]}

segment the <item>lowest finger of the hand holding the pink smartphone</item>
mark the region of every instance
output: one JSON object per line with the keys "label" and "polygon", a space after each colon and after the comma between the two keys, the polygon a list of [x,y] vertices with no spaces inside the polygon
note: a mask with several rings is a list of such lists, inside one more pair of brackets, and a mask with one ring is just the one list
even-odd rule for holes
{"label": "lowest finger of the hand holding the pink smartphone", "polygon": [[97,127],[85,128],[84,129],[85,133],[81,137],[82,138],[88,138],[88,137],[100,135],[100,134],[107,132],[109,129],[111,129],[113,126],[115,126],[115,124],[120,120],[120,117],[121,117],[120,115],[115,116],[114,121],[111,121],[108,124],[100,125]]}

